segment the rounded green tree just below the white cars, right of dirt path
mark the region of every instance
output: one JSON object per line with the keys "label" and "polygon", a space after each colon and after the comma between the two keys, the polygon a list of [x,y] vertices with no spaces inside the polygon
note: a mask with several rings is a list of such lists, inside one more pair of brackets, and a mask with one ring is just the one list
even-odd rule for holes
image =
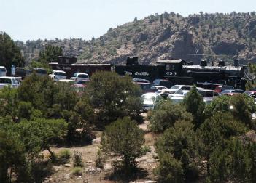
{"label": "rounded green tree just below the white cars, right of dirt path", "polygon": [[150,115],[151,129],[155,132],[165,131],[179,120],[191,121],[192,115],[182,105],[176,105],[171,100],[160,101]]}

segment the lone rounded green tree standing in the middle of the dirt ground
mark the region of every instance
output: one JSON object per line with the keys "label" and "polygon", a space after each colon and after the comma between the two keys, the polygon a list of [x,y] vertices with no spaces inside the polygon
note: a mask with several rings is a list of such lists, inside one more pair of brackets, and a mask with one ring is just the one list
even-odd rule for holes
{"label": "lone rounded green tree standing in the middle of the dirt ground", "polygon": [[142,155],[143,144],[143,131],[128,117],[117,119],[106,126],[101,136],[101,149],[106,154],[114,152],[115,155],[121,156],[125,173],[136,168],[136,158]]}

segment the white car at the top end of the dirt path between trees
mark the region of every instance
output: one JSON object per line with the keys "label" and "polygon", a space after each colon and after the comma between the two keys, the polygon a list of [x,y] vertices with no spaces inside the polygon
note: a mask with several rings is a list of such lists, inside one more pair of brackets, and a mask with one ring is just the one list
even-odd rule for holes
{"label": "white car at the top end of the dirt path between trees", "polygon": [[155,107],[155,103],[158,101],[158,94],[156,93],[146,93],[141,95],[143,110],[152,110]]}

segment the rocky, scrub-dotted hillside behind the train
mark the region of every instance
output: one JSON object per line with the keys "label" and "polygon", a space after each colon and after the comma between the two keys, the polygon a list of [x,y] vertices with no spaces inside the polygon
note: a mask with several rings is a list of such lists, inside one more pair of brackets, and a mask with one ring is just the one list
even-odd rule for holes
{"label": "rocky, scrub-dotted hillside behind the train", "polygon": [[[17,41],[28,62],[47,44],[61,46],[66,55],[78,55],[79,62],[124,63],[136,55],[142,64],[158,59],[182,58],[198,63],[238,57],[240,62],[256,62],[256,15],[251,13],[201,14],[182,17],[163,13],[143,20],[134,19],[90,41],[82,39]],[[194,55],[206,54],[206,55]],[[217,55],[217,57],[216,57]]]}

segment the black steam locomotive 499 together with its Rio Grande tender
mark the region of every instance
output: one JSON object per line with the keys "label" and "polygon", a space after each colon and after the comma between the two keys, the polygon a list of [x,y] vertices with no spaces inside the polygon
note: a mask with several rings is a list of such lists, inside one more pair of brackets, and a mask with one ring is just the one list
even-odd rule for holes
{"label": "black steam locomotive 499 together with its Rio Grande tender", "polygon": [[126,65],[116,65],[115,71],[120,75],[128,74],[133,78],[146,78],[150,81],[165,78],[173,84],[198,84],[212,82],[228,84],[236,88],[245,88],[247,81],[253,76],[247,65],[225,66],[225,62],[218,62],[217,66],[208,66],[205,60],[200,65],[193,65],[185,60],[158,60],[157,65],[139,65],[138,57],[128,57]]}

